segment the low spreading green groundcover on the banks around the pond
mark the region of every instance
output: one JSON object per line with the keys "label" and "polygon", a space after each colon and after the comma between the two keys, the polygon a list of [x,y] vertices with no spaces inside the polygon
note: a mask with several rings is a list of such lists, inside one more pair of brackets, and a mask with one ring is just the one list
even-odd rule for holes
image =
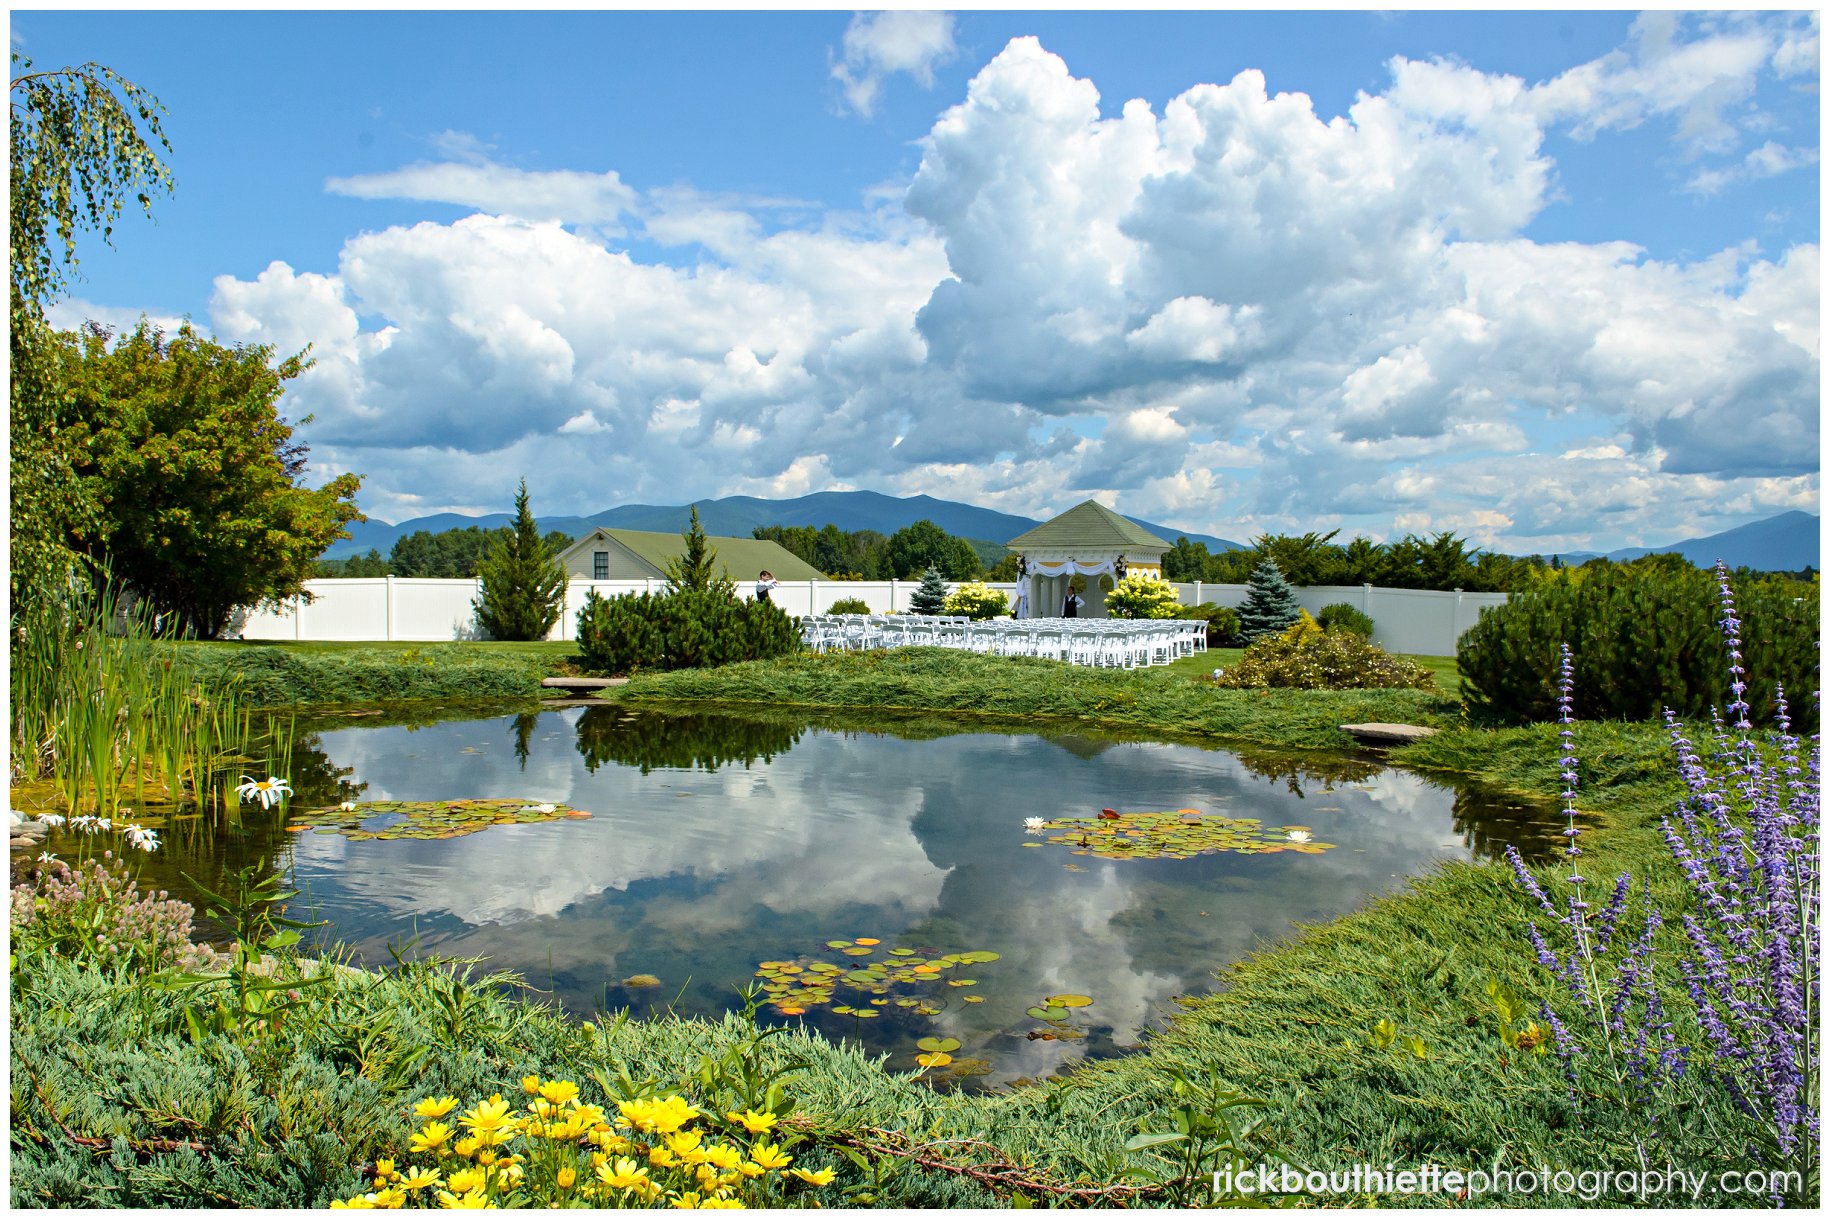
{"label": "low spreading green groundcover on the banks around the pond", "polygon": [[[437,646],[187,648],[201,663],[242,672],[245,686],[267,697],[287,681],[337,696],[315,701],[348,703],[403,688],[445,690],[476,675],[500,681],[500,694],[525,707],[540,675],[562,664],[571,646],[456,648],[456,655]],[[395,670],[406,679],[395,681]],[[604,701],[941,716],[974,725],[966,730],[1047,717],[1050,727],[1294,750],[1347,750],[1352,743],[1340,723],[1383,719],[1440,730],[1389,750],[1393,765],[1451,771],[1545,800],[1561,791],[1557,725],[1471,727],[1444,690],[1219,690],[1182,672],[1087,672],[902,650],[639,675]],[[1662,899],[1682,901],[1682,873],[1658,835],[1660,816],[1680,793],[1663,728],[1581,723],[1577,738],[1592,873],[1632,871],[1649,877]],[[1239,1140],[1243,1164],[1281,1157],[1338,1171],[1431,1162],[1462,1170],[1631,1166],[1629,1118],[1576,1124],[1557,1060],[1502,1038],[1495,987],[1523,998],[1526,1010],[1548,998],[1526,941],[1532,913],[1504,864],[1440,866],[1365,910],[1301,928],[1226,968],[1215,992],[1182,999],[1179,1018],[1138,1052],[1010,1093],[937,1093],[800,1030],[769,1038],[756,1052],[776,1065],[809,1063],[785,1076],[783,1087],[798,1098],[796,1122],[809,1137],[798,1166],[840,1175],[825,1204],[1096,1201],[1063,1190],[1118,1184],[1124,1170],[1157,1162],[1124,1144],[1160,1129],[1166,1113],[1188,1104],[1175,1091],[1177,1073],[1263,1102],[1261,1124]],[[406,1111],[423,1095],[512,1095],[527,1073],[684,1080],[701,1054],[721,1056],[750,1036],[739,1018],[606,1019],[593,1029],[516,999],[516,987],[415,963],[388,974],[333,972],[335,981],[307,999],[317,1016],[309,1025],[300,1016],[291,1025],[298,1041],[278,1054],[276,1038],[194,1043],[176,1030],[156,1032],[172,1029],[179,998],[143,994],[132,977],[55,957],[37,965],[42,972],[29,987],[15,976],[15,1204],[106,1197],[123,1206],[170,1206],[232,1197],[322,1206],[370,1188],[362,1170],[406,1146]],[[128,992],[135,998],[124,999]],[[104,1104],[117,1091],[112,1080],[121,1078],[137,1080],[145,1095]],[[309,1111],[298,1107],[307,1102]],[[95,1146],[99,1133],[112,1153]],[[975,1142],[959,1144],[964,1151],[950,1159],[941,1155],[950,1138]],[[972,1164],[977,1170],[968,1171]],[[999,1177],[999,1164],[1021,1171]],[[104,1193],[73,1193],[79,1184],[97,1188],[97,1179]],[[1711,1197],[1704,1193],[1706,1203]],[[1455,1197],[1376,1201],[1448,1204]],[[1592,1199],[1497,1192],[1471,1201]]]}

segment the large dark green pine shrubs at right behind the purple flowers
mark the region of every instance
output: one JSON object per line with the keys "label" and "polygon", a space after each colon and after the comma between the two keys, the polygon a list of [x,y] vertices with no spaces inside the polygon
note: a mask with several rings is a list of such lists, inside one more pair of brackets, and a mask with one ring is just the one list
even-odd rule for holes
{"label": "large dark green pine shrubs at right behind the purple flowers", "polygon": [[[1815,584],[1731,580],[1742,611],[1742,664],[1757,679],[1746,694],[1770,723],[1784,686],[1793,723],[1817,725],[1799,692],[1817,688]],[[1707,716],[1728,701],[1728,644],[1718,630],[1717,577],[1700,569],[1588,566],[1513,593],[1482,610],[1462,635],[1457,666],[1462,703],[1490,723],[1557,717],[1559,646],[1568,644],[1577,719],[1658,719],[1665,708]]]}

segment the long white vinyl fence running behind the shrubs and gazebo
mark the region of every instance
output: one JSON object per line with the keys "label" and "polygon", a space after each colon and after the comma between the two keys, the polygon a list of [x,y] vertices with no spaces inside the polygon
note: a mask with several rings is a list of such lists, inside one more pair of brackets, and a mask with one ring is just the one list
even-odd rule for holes
{"label": "long white vinyl fence running behind the shrubs and gazebo", "polygon": [[[664,580],[573,580],[565,613],[549,639],[571,639],[589,589],[598,597],[659,591]],[[919,580],[783,580],[774,602],[791,615],[825,613],[834,600],[856,597],[873,613],[906,613]],[[957,586],[948,586],[957,588]],[[992,584],[1016,604],[1016,584]],[[1177,584],[1184,606],[1215,602],[1239,606],[1244,584]],[[362,580],[306,580],[309,604],[280,611],[249,610],[242,639],[415,641],[481,639],[472,600],[476,580],[417,580],[375,577]],[[750,588],[737,586],[741,597]],[[1402,588],[1318,586],[1296,589],[1297,602],[1316,613],[1347,602],[1372,619],[1372,642],[1387,652],[1455,655],[1455,641],[1480,619],[1480,610],[1506,604],[1506,593],[1427,593]],[[232,631],[231,631],[232,633]]]}

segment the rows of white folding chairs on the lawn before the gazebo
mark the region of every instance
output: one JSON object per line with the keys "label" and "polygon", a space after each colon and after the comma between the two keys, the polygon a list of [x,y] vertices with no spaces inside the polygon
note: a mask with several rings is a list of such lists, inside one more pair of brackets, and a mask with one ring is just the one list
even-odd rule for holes
{"label": "rows of white folding chairs on the lawn before the gazebo", "polygon": [[1193,619],[992,619],[919,613],[813,613],[800,620],[813,652],[959,648],[1034,655],[1093,668],[1168,664],[1208,650],[1208,624]]}

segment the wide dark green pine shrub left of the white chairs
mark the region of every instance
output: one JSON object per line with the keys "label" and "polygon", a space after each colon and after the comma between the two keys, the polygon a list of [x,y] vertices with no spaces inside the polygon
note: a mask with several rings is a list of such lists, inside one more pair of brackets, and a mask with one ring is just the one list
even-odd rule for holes
{"label": "wide dark green pine shrub left of the white chairs", "polygon": [[578,611],[578,653],[598,674],[716,668],[798,648],[800,631],[780,606],[719,591],[683,588],[628,597],[591,591]]}

